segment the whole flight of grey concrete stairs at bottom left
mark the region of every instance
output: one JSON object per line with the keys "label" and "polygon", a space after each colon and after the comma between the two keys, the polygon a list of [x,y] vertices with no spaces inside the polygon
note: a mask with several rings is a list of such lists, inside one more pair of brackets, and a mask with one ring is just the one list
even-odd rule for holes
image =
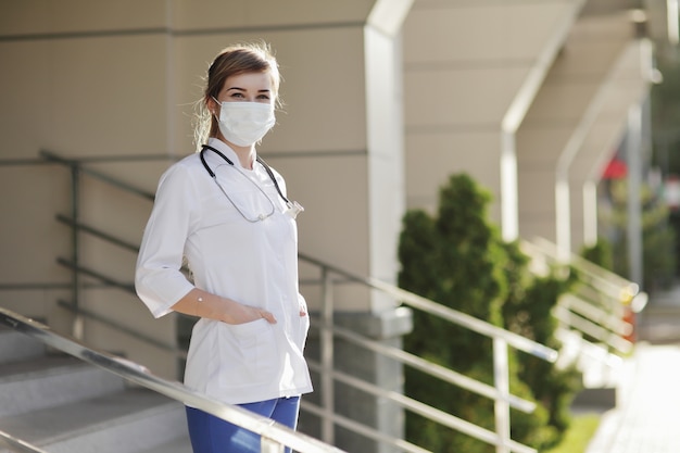
{"label": "whole flight of grey concrete stairs at bottom left", "polygon": [[0,430],[50,453],[191,452],[181,403],[3,327]]}

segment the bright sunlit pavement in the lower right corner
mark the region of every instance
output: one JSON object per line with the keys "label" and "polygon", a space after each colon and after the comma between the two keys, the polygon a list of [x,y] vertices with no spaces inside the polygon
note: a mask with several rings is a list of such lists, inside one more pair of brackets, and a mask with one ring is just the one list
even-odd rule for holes
{"label": "bright sunlit pavement in the lower right corner", "polygon": [[585,453],[680,453],[680,345],[639,343]]}

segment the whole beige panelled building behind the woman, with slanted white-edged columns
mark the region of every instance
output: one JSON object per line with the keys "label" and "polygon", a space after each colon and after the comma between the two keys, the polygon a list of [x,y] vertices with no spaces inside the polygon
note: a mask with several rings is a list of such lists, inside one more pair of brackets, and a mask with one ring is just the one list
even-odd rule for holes
{"label": "whole beige panelled building behind the woman, with slanted white-edged columns", "polygon": [[[281,65],[285,112],[260,153],[305,206],[302,254],[394,282],[402,216],[433,210],[454,173],[489,188],[504,239],[578,252],[602,234],[613,162],[632,193],[647,178],[655,49],[677,43],[677,22],[672,0],[4,0],[0,305],[177,378],[172,351],[113,326],[182,344],[181,322],[153,320],[128,291],[146,194],[196,150],[213,56],[254,39]],[[629,209],[629,277],[642,284],[640,204]],[[318,311],[316,268],[301,266]],[[389,344],[410,330],[392,298],[333,288],[340,325]],[[377,354],[336,360],[400,389]],[[370,414],[400,435],[389,411]]]}

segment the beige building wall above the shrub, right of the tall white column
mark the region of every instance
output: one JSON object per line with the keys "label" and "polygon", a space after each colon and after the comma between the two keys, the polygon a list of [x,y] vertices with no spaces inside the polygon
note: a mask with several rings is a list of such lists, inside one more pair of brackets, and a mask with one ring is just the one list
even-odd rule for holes
{"label": "beige building wall above the shrub, right of the tall white column", "polygon": [[[647,90],[651,54],[634,29],[621,2],[416,0],[403,33],[407,206],[433,210],[465,172],[492,192],[505,239],[556,241],[566,205],[579,250],[583,185]],[[563,203],[556,168],[571,152]]]}

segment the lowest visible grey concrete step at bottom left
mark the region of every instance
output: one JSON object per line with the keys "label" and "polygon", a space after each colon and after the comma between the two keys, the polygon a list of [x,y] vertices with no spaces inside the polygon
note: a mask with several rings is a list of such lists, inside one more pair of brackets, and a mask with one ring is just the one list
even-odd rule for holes
{"label": "lowest visible grey concrete step at bottom left", "polygon": [[188,442],[184,406],[136,388],[0,417],[0,426],[50,453],[140,453]]}

